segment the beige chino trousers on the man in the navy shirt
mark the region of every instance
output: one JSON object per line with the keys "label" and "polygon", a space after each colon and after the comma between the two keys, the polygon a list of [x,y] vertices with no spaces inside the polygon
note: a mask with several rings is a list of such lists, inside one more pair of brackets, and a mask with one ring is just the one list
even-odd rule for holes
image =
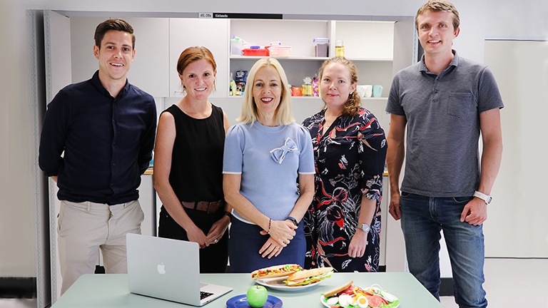
{"label": "beige chino trousers on the man in the navy shirt", "polygon": [[138,200],[118,205],[61,201],[57,218],[61,294],[81,274],[95,272],[99,250],[107,274],[126,273],[126,234],[141,234],[143,219]]}

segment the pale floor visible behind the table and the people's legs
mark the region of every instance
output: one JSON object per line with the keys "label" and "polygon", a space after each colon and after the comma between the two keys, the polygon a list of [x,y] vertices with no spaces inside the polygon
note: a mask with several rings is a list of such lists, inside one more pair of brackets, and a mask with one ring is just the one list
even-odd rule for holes
{"label": "pale floor visible behind the table and the people's legs", "polygon": [[[489,307],[548,307],[548,259],[489,258],[484,270]],[[445,308],[458,307],[453,297],[441,302]],[[36,300],[0,299],[0,307],[36,308]]]}

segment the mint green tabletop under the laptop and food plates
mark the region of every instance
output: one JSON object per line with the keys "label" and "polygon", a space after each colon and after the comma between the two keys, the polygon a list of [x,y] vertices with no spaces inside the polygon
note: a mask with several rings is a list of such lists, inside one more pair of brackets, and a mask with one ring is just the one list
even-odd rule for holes
{"label": "mint green tabletop under the laptop and food plates", "polygon": [[[308,289],[298,292],[280,292],[268,289],[268,294],[279,297],[283,307],[324,307],[320,303],[320,294],[333,287],[338,287],[350,280],[360,287],[369,287],[371,284],[380,284],[383,289],[400,297],[400,308],[443,308],[422,284],[407,272],[382,273],[335,273]],[[223,297],[215,299],[206,308],[226,307],[230,297],[245,294],[246,290],[255,282],[250,274],[201,274],[202,282],[223,284],[233,287],[233,291]],[[128,291],[128,277],[126,274],[85,274],[80,277],[51,308],[169,308],[193,307],[161,299],[153,299]]]}

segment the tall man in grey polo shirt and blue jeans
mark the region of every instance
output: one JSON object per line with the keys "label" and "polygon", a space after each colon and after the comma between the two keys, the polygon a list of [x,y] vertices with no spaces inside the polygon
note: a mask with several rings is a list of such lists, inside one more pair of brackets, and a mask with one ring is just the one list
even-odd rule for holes
{"label": "tall man in grey polo shirt and blue jeans", "polygon": [[443,230],[455,302],[487,307],[482,223],[502,156],[502,98],[487,66],[452,50],[460,19],[449,1],[421,6],[415,26],[425,53],[396,74],[386,107],[390,214],[401,218],[410,272],[435,297]]}

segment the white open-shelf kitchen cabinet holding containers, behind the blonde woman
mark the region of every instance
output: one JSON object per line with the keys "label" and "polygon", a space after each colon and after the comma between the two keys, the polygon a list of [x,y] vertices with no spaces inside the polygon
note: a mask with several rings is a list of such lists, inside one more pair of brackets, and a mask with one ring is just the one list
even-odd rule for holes
{"label": "white open-shelf kitchen cabinet holding containers, behind the blonde woman", "polygon": [[[230,20],[230,38],[260,46],[280,41],[291,46],[290,56],[277,57],[290,84],[300,86],[305,76],[314,76],[323,61],[335,55],[335,41],[345,44],[345,57],[357,66],[360,84],[378,84],[387,96],[392,80],[394,21],[333,20]],[[314,56],[315,38],[330,39],[328,57]],[[230,55],[230,72],[249,70],[258,56]],[[228,76],[229,78],[230,76]],[[299,98],[297,98],[299,99]]]}

